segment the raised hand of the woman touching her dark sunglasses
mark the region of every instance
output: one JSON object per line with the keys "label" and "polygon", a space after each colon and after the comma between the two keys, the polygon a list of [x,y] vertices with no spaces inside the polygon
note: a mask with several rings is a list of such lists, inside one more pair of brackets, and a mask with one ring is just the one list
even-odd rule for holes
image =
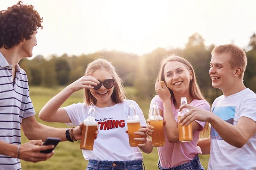
{"label": "raised hand of the woman touching her dark sunglasses", "polygon": [[98,85],[99,81],[91,76],[83,76],[80,79],[76,80],[70,85],[70,88],[73,92],[79,91],[83,88],[93,89],[92,85]]}

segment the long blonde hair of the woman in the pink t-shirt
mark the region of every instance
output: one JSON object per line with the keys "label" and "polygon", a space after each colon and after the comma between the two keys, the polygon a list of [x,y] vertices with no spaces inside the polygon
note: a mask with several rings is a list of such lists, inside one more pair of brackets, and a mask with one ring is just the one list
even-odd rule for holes
{"label": "long blonde hair of the woman in the pink t-shirt", "polygon": [[[162,62],[161,62],[160,70],[159,70],[159,73],[158,73],[158,76],[157,76],[158,79],[161,80],[161,81],[165,81],[164,72],[163,72],[164,67],[166,66],[167,62],[172,62],[172,61],[177,61],[177,62],[183,63],[184,65],[186,65],[187,69],[192,72],[192,81],[190,81],[190,83],[189,83],[189,95],[192,96],[193,99],[207,101],[204,98],[204,95],[203,95],[203,93],[202,93],[202,91],[201,91],[201,89],[200,89],[200,87],[197,83],[194,68],[192,67],[192,65],[186,59],[184,59],[182,57],[179,57],[179,56],[176,56],[176,55],[171,55],[171,56],[163,58]],[[175,105],[176,100],[175,100],[175,96],[173,94],[173,91],[171,89],[169,89],[169,91],[171,93],[171,99],[173,99],[173,103]],[[205,136],[208,129],[209,129],[209,122],[207,122],[205,124],[204,130],[201,132],[201,136]]]}

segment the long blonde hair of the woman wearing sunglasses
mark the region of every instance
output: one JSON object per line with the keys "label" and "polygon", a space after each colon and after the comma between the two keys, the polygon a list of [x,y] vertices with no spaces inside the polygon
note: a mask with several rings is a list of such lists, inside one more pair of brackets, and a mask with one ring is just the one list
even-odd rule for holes
{"label": "long blonde hair of the woman wearing sunglasses", "polygon": [[[111,64],[111,62],[108,62],[106,59],[102,58],[96,59],[87,66],[84,75],[91,76],[93,72],[98,69],[104,69],[105,71],[108,71],[113,79],[115,79],[114,90],[111,95],[111,99],[115,103],[122,103],[124,99],[126,99],[125,89],[122,85],[122,79],[116,73],[116,69]],[[90,93],[89,89],[84,89],[84,102],[86,105],[96,105],[97,100]]]}

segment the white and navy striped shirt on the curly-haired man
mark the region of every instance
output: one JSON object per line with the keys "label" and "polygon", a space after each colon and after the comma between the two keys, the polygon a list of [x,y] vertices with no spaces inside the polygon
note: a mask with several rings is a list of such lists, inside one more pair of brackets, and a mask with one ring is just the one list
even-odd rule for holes
{"label": "white and navy striped shirt on the curly-haired man", "polygon": [[[29,97],[26,73],[17,64],[15,80],[12,66],[0,52],[0,140],[10,144],[20,144],[22,119],[35,115]],[[20,160],[0,155],[0,170],[20,170]]]}

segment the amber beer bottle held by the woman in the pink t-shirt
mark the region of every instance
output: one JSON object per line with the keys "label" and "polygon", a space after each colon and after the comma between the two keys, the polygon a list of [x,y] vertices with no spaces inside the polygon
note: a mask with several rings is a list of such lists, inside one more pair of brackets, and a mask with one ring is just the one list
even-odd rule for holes
{"label": "amber beer bottle held by the woman in the pink t-shirt", "polygon": [[152,104],[152,116],[150,117],[150,125],[154,127],[152,132],[152,144],[154,147],[165,145],[165,137],[163,130],[163,117],[159,115],[159,110],[156,103]]}

